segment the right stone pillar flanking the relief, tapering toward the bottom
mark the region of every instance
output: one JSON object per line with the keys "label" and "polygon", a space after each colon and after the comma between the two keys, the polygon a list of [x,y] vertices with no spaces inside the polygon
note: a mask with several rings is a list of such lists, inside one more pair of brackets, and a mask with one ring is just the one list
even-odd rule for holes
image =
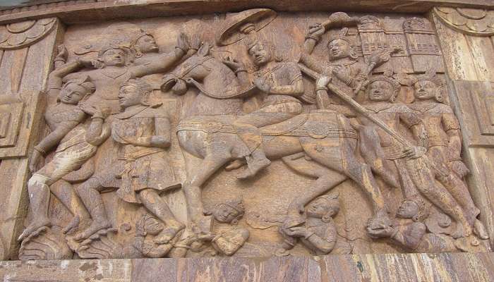
{"label": "right stone pillar flanking the relief, tapering toward the bottom", "polygon": [[433,9],[451,78],[450,94],[462,125],[471,195],[494,242],[494,11]]}

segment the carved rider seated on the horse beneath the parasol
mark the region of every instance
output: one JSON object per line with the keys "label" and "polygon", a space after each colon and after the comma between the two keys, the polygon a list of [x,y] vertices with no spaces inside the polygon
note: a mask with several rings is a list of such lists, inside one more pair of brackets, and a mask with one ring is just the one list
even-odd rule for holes
{"label": "carved rider seated on the horse beneath the parasol", "polygon": [[[265,97],[260,109],[245,114],[234,121],[234,127],[247,145],[251,155],[246,157],[247,169],[238,178],[255,176],[260,169],[269,166],[259,128],[286,121],[301,114],[302,103],[297,96],[303,94],[302,73],[296,63],[277,62],[272,42],[248,40],[248,54],[259,68],[254,73],[254,85]],[[228,169],[228,168],[227,168]]]}

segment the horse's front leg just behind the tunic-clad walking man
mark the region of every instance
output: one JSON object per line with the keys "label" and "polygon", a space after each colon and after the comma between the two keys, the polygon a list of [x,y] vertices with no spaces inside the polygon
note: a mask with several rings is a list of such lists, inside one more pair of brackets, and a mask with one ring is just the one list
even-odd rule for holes
{"label": "horse's front leg just behind the tunic-clad walking man", "polygon": [[201,186],[209,179],[213,173],[221,168],[228,161],[231,161],[231,154],[210,153],[196,166],[191,176],[183,183],[183,192],[186,195],[188,220],[199,223],[204,217],[204,207],[201,200]]}

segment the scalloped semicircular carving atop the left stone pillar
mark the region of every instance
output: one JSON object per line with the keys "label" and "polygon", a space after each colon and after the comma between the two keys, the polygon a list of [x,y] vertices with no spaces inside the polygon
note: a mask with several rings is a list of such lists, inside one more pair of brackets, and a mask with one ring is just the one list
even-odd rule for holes
{"label": "scalloped semicircular carving atop the left stone pillar", "polygon": [[28,47],[47,35],[55,26],[56,18],[26,20],[0,26],[0,49]]}

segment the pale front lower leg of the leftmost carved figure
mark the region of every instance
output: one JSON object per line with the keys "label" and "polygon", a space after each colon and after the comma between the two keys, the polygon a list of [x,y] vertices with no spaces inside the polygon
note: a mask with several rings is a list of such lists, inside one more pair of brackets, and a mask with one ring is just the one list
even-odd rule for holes
{"label": "pale front lower leg of the leftmost carved figure", "polygon": [[49,207],[49,187],[46,184],[48,178],[34,175],[28,181],[29,205],[34,218],[30,225],[25,228],[17,240],[22,241],[32,232],[43,226],[51,226],[52,222],[48,218]]}

